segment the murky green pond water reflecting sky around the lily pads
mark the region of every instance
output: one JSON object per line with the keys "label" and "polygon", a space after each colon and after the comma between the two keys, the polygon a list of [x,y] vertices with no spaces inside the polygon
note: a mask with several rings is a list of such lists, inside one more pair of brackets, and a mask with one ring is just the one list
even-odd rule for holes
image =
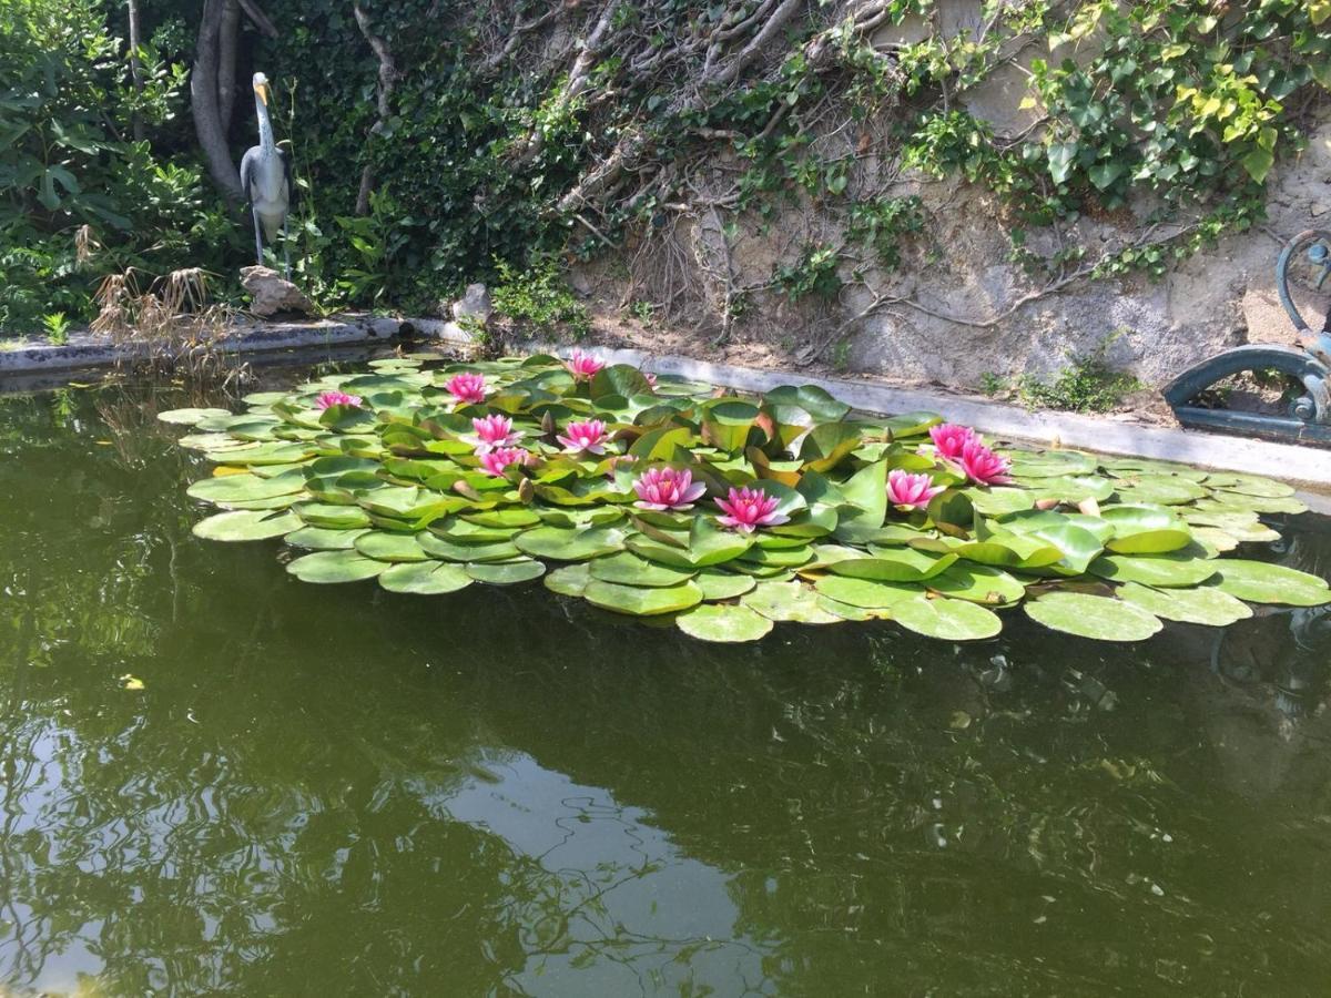
{"label": "murky green pond water reflecting sky around the lily pads", "polygon": [[190,535],[153,414],[216,401],[0,398],[0,994],[1326,993],[1331,616],[727,647],[310,585]]}

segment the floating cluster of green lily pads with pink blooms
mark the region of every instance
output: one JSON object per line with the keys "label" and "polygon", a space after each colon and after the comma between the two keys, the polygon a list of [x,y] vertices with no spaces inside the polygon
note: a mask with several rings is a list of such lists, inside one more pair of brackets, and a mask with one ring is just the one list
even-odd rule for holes
{"label": "floating cluster of green lily pads with pink blooms", "polygon": [[744,398],[582,353],[430,359],[248,395],[240,414],[162,413],[216,466],[189,495],[222,512],[194,532],[284,538],[311,583],[543,578],[716,641],[870,619],[973,640],[1022,612],[1130,641],[1331,601],[1323,579],[1231,556],[1278,539],[1262,514],[1303,508],[1268,479],[1005,450],[813,386]]}

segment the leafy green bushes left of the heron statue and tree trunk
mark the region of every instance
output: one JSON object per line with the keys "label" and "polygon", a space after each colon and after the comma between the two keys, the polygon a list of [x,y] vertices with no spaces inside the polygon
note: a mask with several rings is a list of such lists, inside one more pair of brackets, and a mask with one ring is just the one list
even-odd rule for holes
{"label": "leafy green bushes left of the heron statue and tree trunk", "polygon": [[197,166],[129,138],[136,114],[173,128],[185,67],[142,47],[136,93],[106,13],[98,0],[0,5],[0,330],[89,319],[97,274],[217,266],[232,242]]}

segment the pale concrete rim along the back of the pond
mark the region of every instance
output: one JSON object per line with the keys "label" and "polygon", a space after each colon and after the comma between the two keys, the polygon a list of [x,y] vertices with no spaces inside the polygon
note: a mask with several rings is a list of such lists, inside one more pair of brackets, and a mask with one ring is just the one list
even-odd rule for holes
{"label": "pale concrete rim along the back of the pond", "polygon": [[[443,319],[397,319],[346,315],[317,322],[269,322],[228,337],[226,353],[262,354],[321,346],[389,343],[395,339],[473,347],[473,337]],[[574,347],[540,341],[518,345],[530,353],[567,355]],[[0,351],[0,382],[8,375],[100,367],[134,359],[146,346],[113,343],[106,337],[79,334],[65,345],[31,343]],[[795,371],[767,371],[644,350],[596,347],[612,363],[627,363],[658,374],[673,374],[740,391],[767,391],[777,385],[816,385],[865,413],[936,411],[982,432],[1054,447],[1075,447],[1102,454],[1177,460],[1217,471],[1266,475],[1314,490],[1304,499],[1319,512],[1331,514],[1331,451],[1311,446],[1271,443],[1240,436],[1142,426],[1106,416],[1030,411],[1020,406],[918,389],[845,378],[820,378]],[[1322,494],[1322,495],[1319,495]]]}

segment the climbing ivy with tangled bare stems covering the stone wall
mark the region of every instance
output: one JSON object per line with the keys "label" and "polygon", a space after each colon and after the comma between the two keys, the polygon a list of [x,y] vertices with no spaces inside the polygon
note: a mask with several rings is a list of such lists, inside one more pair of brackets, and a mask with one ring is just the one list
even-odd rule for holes
{"label": "climbing ivy with tangled bare stems covering the stone wall", "polygon": [[[993,192],[1037,295],[1159,275],[1262,218],[1271,169],[1331,86],[1331,0],[989,0],[961,19],[930,0],[365,9],[399,71],[375,132],[375,64],[331,0],[291,4],[264,57],[291,77],[330,205],[350,210],[358,174],[325,164],[373,162],[391,188],[402,290],[495,258],[604,254],[626,302],[723,327],[755,294],[864,285],[912,307],[890,274],[937,250],[920,177]],[[1017,133],[974,109],[998,72],[1026,81]],[[813,225],[772,228],[801,208]],[[1123,238],[1086,245],[1087,217]],[[759,285],[731,259],[745,234],[788,240]]]}

